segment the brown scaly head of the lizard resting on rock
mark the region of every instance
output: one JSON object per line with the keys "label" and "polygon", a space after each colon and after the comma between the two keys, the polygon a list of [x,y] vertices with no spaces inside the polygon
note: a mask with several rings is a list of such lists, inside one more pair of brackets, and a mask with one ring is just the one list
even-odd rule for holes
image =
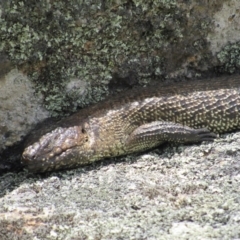
{"label": "brown scaly head of the lizard resting on rock", "polygon": [[24,149],[22,164],[31,172],[75,167],[87,161],[87,144],[83,126],[57,127]]}

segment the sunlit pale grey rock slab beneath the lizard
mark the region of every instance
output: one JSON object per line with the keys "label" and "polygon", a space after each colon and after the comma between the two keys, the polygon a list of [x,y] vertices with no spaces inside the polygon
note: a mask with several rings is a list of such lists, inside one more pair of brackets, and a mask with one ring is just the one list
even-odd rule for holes
{"label": "sunlit pale grey rock slab beneath the lizard", "polygon": [[0,239],[239,239],[240,133],[0,178]]}

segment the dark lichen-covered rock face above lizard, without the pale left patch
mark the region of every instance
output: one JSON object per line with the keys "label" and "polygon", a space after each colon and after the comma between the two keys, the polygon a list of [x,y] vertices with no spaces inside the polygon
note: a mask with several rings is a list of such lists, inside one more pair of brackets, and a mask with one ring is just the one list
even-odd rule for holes
{"label": "dark lichen-covered rock face above lizard, without the pale left patch", "polygon": [[[1,1],[0,51],[31,76],[51,114],[63,116],[129,85],[238,71],[239,7],[238,0]],[[84,82],[74,94],[71,79]]]}

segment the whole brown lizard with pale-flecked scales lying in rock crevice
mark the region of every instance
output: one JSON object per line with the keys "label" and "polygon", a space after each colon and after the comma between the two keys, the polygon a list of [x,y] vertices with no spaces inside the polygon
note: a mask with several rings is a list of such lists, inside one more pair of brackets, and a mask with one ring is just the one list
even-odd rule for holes
{"label": "whole brown lizard with pale-flecked scales lying in rock crevice", "polygon": [[240,129],[240,76],[146,87],[37,130],[22,154],[31,172],[77,168],[164,142],[213,141]]}

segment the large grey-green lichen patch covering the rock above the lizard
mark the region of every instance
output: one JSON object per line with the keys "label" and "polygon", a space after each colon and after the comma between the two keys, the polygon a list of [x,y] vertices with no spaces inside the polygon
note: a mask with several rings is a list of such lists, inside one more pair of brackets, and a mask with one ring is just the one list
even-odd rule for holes
{"label": "large grey-green lichen patch covering the rock above the lizard", "polygon": [[[134,72],[146,84],[166,74],[166,57],[168,71],[175,68],[189,35],[186,21],[175,0],[12,0],[0,19],[0,49],[31,75],[47,109],[59,115],[105,97],[114,73]],[[71,78],[88,83],[84,99],[65,92]]]}

